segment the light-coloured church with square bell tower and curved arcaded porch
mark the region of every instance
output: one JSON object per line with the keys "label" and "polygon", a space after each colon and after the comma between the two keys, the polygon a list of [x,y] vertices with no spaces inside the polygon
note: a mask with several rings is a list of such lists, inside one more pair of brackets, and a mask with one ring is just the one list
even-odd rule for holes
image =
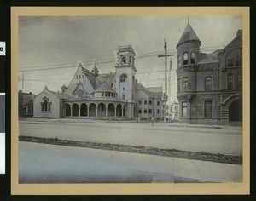
{"label": "light-coloured church with square bell tower and curved arcaded porch", "polygon": [[137,83],[135,51],[120,46],[115,72],[100,74],[79,63],[69,86],[61,93],[45,87],[34,100],[34,117],[160,118],[162,88],[145,88]]}

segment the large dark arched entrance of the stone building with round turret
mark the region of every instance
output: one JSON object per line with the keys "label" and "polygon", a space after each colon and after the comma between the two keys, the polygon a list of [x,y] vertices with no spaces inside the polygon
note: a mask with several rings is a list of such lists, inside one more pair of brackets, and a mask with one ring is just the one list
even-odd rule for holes
{"label": "large dark arched entrance of the stone building with round turret", "polygon": [[229,107],[229,121],[241,122],[242,121],[242,102],[241,99],[235,100]]}

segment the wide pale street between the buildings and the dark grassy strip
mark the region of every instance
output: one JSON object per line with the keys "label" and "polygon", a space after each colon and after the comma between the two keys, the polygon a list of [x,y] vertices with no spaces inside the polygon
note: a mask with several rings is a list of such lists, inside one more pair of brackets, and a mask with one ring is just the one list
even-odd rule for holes
{"label": "wide pale street between the buildings and the dark grassy strip", "polygon": [[107,122],[86,119],[20,121],[20,135],[73,141],[150,146],[192,152],[242,154],[241,127],[177,125],[173,123]]}

